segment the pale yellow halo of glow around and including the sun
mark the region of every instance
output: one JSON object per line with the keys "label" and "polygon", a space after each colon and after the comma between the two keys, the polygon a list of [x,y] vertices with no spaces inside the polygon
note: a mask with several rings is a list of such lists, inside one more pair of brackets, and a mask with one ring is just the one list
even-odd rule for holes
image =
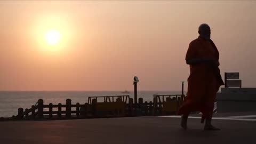
{"label": "pale yellow halo of glow around and including the sun", "polygon": [[31,37],[38,49],[44,54],[68,53],[73,42],[74,27],[67,15],[41,15],[35,21]]}

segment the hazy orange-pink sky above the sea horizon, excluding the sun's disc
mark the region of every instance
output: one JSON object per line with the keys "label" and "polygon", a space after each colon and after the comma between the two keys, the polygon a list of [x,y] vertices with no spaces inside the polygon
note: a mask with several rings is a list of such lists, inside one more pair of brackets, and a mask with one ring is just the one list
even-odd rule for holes
{"label": "hazy orange-pink sky above the sea horizon, excluding the sun's disc", "polygon": [[[0,90],[180,90],[208,23],[222,77],[256,86],[255,1],[1,1]],[[60,43],[45,41],[58,30]],[[185,85],[187,87],[187,83]],[[185,87],[185,89],[186,89]]]}

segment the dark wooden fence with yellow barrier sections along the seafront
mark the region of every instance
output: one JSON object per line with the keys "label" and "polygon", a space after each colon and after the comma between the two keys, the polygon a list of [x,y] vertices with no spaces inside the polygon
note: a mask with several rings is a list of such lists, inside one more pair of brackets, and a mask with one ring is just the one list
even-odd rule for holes
{"label": "dark wooden fence with yellow barrier sections along the seafront", "polygon": [[[12,119],[72,119],[72,118],[98,118],[98,117],[123,117],[123,116],[148,116],[176,114],[183,102],[184,95],[155,95],[153,102],[138,99],[138,104],[133,102],[129,95],[89,97],[88,103],[73,105],[71,99],[62,105],[45,105],[39,99],[30,109],[19,108],[18,115]],[[103,102],[98,102],[103,99]],[[171,113],[169,113],[171,112]],[[174,112],[174,113],[173,113]]]}

